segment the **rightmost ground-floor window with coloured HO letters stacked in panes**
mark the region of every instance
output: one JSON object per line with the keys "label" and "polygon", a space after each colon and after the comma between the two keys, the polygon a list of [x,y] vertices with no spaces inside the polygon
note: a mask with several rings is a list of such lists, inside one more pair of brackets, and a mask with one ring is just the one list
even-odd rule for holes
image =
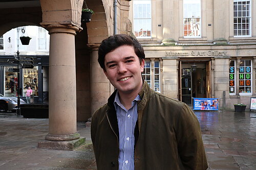
{"label": "rightmost ground-floor window with coloured HO letters stacked in panes", "polygon": [[239,67],[239,94],[251,95],[251,60],[241,60]]}

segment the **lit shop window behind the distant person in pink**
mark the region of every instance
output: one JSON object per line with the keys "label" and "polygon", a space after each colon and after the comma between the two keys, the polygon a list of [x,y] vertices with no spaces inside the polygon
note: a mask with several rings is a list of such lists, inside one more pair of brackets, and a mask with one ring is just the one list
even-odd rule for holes
{"label": "lit shop window behind the distant person in pink", "polygon": [[34,96],[38,96],[38,67],[23,68],[23,96],[26,96],[28,87],[33,90]]}

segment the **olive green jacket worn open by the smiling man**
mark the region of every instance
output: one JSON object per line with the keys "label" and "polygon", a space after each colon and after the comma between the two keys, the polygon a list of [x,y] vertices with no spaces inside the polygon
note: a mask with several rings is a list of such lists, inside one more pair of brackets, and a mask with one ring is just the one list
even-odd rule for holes
{"label": "olive green jacket worn open by the smiling man", "polygon": [[[115,94],[92,117],[91,137],[98,170],[118,169]],[[153,91],[145,81],[139,95],[142,100],[138,102],[134,131],[135,170],[207,169],[201,129],[193,111]]]}

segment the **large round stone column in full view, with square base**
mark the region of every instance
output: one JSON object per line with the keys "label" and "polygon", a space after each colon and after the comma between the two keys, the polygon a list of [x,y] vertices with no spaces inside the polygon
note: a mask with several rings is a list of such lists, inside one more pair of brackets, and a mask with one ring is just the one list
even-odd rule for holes
{"label": "large round stone column in full view, with square base", "polygon": [[[39,148],[73,150],[85,142],[76,130],[75,35],[72,25],[49,25],[49,133]],[[77,140],[76,140],[77,139]]]}

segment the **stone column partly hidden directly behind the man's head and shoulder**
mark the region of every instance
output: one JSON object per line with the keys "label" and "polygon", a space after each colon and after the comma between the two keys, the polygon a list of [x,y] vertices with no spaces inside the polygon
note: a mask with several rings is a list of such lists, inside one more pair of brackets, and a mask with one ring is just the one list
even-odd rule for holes
{"label": "stone column partly hidden directly behind the man's head and shoulder", "polygon": [[103,69],[98,63],[98,50],[92,51],[91,56],[91,112],[94,113],[102,105],[108,102],[114,87],[106,78]]}

